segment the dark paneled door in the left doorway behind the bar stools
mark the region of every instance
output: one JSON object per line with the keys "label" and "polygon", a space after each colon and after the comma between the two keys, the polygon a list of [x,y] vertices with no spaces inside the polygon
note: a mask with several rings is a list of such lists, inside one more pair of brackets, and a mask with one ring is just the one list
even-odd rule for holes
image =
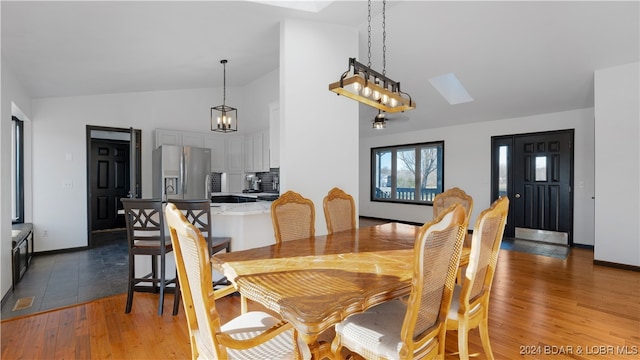
{"label": "dark paneled door in the left doorway behind the bar stools", "polygon": [[91,142],[92,230],[123,228],[121,198],[129,193],[129,142],[98,140]]}

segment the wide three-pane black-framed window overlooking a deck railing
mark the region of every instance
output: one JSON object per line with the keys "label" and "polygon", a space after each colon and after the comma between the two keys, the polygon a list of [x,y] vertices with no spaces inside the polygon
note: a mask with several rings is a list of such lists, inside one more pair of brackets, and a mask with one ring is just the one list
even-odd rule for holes
{"label": "wide three-pane black-framed window overlooking a deck railing", "polygon": [[444,141],[371,149],[371,200],[431,205],[443,174]]}

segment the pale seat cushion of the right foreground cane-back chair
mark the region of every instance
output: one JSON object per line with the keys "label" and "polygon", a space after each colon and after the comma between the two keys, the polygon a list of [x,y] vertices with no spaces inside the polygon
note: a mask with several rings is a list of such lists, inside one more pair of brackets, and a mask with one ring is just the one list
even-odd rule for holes
{"label": "pale seat cushion of the right foreground cane-back chair", "polygon": [[342,345],[366,359],[398,359],[402,347],[400,330],[407,305],[391,300],[363,313],[353,314],[336,325]]}

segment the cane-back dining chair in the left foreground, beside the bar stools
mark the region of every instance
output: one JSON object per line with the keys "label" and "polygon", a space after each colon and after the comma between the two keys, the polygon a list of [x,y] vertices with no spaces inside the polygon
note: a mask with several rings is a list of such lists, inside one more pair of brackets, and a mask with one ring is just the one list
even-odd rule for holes
{"label": "cane-back dining chair in the left foreground, beside the bar stools", "polygon": [[291,324],[253,311],[221,325],[216,292],[211,288],[209,246],[202,233],[174,204],[165,209],[182,303],[189,327],[193,359],[293,359],[296,352],[309,358],[306,344],[295,340]]}

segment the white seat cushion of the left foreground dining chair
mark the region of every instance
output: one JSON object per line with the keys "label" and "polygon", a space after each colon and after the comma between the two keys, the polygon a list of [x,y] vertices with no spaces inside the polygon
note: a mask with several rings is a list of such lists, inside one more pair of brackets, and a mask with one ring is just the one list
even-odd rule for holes
{"label": "white seat cushion of the left foreground dining chair", "polygon": [[[275,317],[261,311],[242,314],[222,325],[221,330],[234,339],[250,339],[276,325]],[[298,341],[304,359],[310,359],[311,353],[304,342]],[[247,350],[227,348],[229,359],[294,359],[293,331],[288,330],[275,338]]]}

